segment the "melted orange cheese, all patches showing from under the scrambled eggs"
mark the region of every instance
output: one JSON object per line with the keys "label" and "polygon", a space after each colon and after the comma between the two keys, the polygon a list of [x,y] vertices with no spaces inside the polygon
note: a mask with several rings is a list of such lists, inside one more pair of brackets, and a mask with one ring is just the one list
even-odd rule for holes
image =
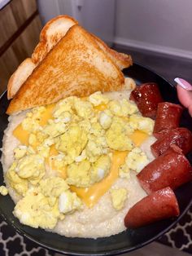
{"label": "melted orange cheese, all patches showing from under the scrambled eggs", "polygon": [[[52,110],[54,107],[55,104],[50,104],[46,106],[46,111],[41,115],[41,126],[45,126],[47,121],[52,118]],[[98,111],[102,111],[106,108],[106,104],[100,104],[94,107],[94,109]],[[13,135],[16,139],[19,139],[22,144],[28,145],[29,132],[27,130],[24,130],[21,124],[15,128],[15,130],[13,131]],[[133,140],[133,143],[136,147],[139,147],[147,137],[148,135],[140,130],[134,131],[133,135],[129,136],[129,138]],[[63,179],[66,179],[66,169],[63,168],[62,170],[59,170],[55,166],[55,160],[53,156],[58,155],[58,153],[59,152],[55,149],[55,145],[52,145],[50,147],[50,157],[46,159],[46,163],[50,166],[52,170],[58,171],[59,176],[61,176]],[[103,196],[111,188],[111,185],[118,178],[119,167],[124,164],[127,153],[128,152],[118,151],[113,153],[110,173],[102,181],[100,181],[99,183],[95,183],[89,188],[76,188],[75,186],[71,186],[72,191],[76,192],[77,196],[81,197],[82,201],[85,202],[85,205],[87,205],[88,207],[93,207],[98,202],[100,197]]]}

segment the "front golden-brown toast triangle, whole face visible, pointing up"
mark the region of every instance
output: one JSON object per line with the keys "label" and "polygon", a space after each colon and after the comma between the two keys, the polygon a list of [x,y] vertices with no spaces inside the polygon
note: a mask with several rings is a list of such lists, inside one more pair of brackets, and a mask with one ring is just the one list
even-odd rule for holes
{"label": "front golden-brown toast triangle, whole face visible, pointing up", "polygon": [[7,113],[52,104],[97,90],[121,90],[124,75],[79,25],[72,26],[11,100]]}

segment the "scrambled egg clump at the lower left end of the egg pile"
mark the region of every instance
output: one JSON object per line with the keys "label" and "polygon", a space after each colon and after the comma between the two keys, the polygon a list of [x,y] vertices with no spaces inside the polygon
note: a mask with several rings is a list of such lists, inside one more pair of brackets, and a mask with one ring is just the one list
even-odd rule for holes
{"label": "scrambled egg clump at the lower left end of the egg pile", "polygon": [[[64,196],[65,195],[65,196]],[[14,209],[15,217],[31,227],[54,228],[63,214],[81,209],[81,199],[59,177],[41,180],[38,188],[28,190]]]}

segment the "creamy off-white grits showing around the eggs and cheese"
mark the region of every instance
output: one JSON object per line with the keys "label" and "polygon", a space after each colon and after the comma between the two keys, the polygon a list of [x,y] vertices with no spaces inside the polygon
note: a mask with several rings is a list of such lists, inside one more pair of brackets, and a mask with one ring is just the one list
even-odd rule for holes
{"label": "creamy off-white grits showing around the eggs and cheese", "polygon": [[[111,92],[106,95],[110,99],[129,99],[129,90],[120,92]],[[7,172],[11,163],[14,161],[13,149],[19,145],[19,141],[12,135],[12,131],[24,119],[25,112],[9,117],[9,125],[5,130],[5,135],[2,143],[2,166],[4,174]],[[154,143],[155,138],[149,136],[144,143],[142,143],[143,152],[146,152],[150,161],[154,159],[151,154],[150,145]],[[46,176],[51,174],[51,170],[46,170]],[[6,181],[6,180],[5,180]],[[7,181],[6,181],[7,183]],[[11,198],[16,203],[20,200],[20,196],[16,195],[14,190],[7,184],[7,188]],[[137,201],[140,201],[146,192],[142,190],[137,182],[136,172],[130,172],[129,179],[116,179],[112,188],[126,188],[128,190],[128,198],[125,201],[123,210],[114,209],[111,203],[110,192],[106,192],[93,208],[88,208],[84,205],[84,209],[75,211],[72,214],[66,214],[63,220],[59,220],[55,228],[48,230],[56,232],[62,236],[68,237],[89,237],[97,238],[103,236],[111,236],[125,230],[124,216]]]}

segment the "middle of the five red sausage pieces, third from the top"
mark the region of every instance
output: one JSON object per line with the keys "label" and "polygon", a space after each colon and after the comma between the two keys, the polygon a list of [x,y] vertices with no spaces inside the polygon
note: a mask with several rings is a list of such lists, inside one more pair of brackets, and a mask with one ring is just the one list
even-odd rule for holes
{"label": "middle of the five red sausage pieces, third from the top", "polygon": [[192,150],[192,133],[190,130],[179,127],[171,130],[163,138],[157,139],[155,143],[151,145],[151,152],[154,157],[158,157],[168,150],[170,145],[177,145],[182,149],[182,152],[187,154]]}

